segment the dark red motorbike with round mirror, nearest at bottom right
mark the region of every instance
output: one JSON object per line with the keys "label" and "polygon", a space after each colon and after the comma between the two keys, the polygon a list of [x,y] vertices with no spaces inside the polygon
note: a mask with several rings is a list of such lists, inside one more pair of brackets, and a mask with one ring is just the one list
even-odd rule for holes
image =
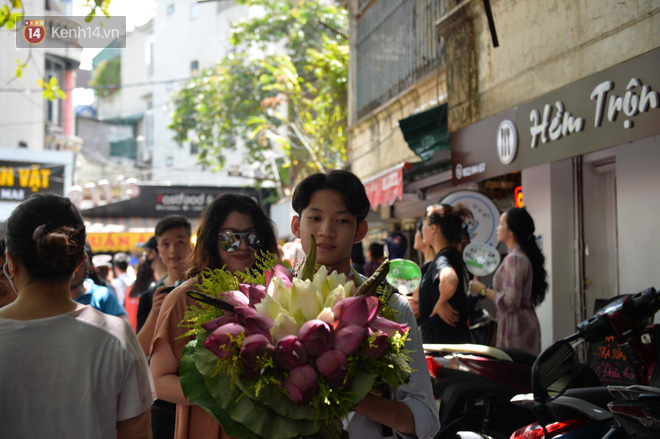
{"label": "dark red motorbike with round mirror, nearest at bottom right", "polygon": [[[532,366],[532,393],[512,399],[537,421],[511,439],[660,437],[660,325],[651,324],[658,310],[660,293],[654,288],[617,297],[543,351]],[[625,352],[637,384],[575,388],[580,367],[575,347],[607,337]]]}

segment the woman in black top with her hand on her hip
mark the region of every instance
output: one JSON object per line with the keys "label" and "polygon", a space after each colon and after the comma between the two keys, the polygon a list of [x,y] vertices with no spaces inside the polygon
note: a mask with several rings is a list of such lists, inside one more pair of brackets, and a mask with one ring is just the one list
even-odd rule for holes
{"label": "woman in black top with her hand on her hip", "polygon": [[468,273],[458,251],[471,212],[443,204],[424,218],[424,242],[439,249],[419,288],[419,320],[424,343],[471,343],[467,324]]}

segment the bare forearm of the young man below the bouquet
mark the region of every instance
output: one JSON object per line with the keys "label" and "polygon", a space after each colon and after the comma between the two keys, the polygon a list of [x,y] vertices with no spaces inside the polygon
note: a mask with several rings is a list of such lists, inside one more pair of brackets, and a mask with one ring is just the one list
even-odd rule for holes
{"label": "bare forearm of the young man below the bouquet", "polygon": [[355,412],[403,434],[415,435],[415,418],[401,401],[393,401],[368,393],[355,406]]}

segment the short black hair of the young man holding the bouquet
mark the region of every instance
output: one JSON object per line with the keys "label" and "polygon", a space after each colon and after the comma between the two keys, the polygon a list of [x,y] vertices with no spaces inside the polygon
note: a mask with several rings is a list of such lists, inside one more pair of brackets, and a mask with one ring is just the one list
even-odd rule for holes
{"label": "short black hair of the young man holding the bouquet", "polygon": [[359,178],[352,172],[336,169],[327,174],[312,174],[298,183],[291,205],[298,215],[309,206],[312,195],[320,190],[333,190],[342,195],[346,209],[357,217],[357,222],[364,220],[369,213],[371,203]]}

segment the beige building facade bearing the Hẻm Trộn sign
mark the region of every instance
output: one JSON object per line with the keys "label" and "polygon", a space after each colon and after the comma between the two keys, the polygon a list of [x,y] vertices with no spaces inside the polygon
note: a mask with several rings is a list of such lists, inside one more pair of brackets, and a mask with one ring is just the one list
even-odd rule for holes
{"label": "beige building facade bearing the H\u1ebbm Tr\u1ed9n sign", "polygon": [[[352,23],[359,25],[379,4],[403,3],[353,2]],[[428,8],[434,2],[412,3]],[[369,157],[390,150],[402,154],[387,164],[396,166],[407,157],[401,121],[422,115],[427,102],[445,104],[450,165],[426,177],[431,186],[423,178],[407,182],[404,171],[403,201],[389,211],[405,218],[413,213],[406,205],[419,198],[435,202],[466,188],[504,209],[514,204],[512,186],[520,184],[546,257],[550,290],[537,313],[547,346],[592,315],[597,298],[660,285],[651,262],[660,251],[648,245],[660,237],[653,219],[660,214],[653,194],[660,183],[654,172],[660,163],[660,5],[435,3],[442,10],[434,28],[442,53],[435,75],[352,118],[351,166],[369,179],[378,170],[363,163],[377,163]],[[362,152],[364,145],[370,151]]]}

